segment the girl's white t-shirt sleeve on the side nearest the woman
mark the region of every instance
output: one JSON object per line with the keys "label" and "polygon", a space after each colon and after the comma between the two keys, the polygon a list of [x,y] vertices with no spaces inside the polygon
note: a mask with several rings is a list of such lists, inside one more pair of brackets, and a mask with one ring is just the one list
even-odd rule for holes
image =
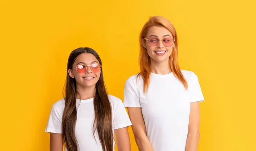
{"label": "girl's white t-shirt sleeve on the side nearest the woman", "polygon": [[114,129],[120,129],[131,125],[131,120],[125,110],[125,106],[119,99],[113,112]]}

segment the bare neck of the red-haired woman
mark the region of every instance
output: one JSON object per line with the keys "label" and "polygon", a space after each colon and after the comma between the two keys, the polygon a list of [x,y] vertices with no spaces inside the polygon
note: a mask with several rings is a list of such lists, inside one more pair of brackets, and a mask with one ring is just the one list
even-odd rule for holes
{"label": "bare neck of the red-haired woman", "polygon": [[171,72],[172,70],[169,67],[169,59],[163,62],[155,62],[151,59],[151,73],[166,75]]}

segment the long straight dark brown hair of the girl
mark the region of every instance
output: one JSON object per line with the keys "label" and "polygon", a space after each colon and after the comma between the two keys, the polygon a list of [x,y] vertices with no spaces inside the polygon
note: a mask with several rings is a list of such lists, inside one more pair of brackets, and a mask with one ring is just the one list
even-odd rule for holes
{"label": "long straight dark brown hair of the girl", "polygon": [[[71,78],[68,70],[73,67],[76,57],[82,53],[91,53],[102,65],[102,61],[95,50],[91,48],[77,48],[70,54],[67,62],[67,80],[64,87],[65,108],[62,117],[62,134],[63,142],[68,151],[78,151],[78,143],[75,136],[76,127],[76,79]],[[107,89],[103,80],[103,72],[101,70],[99,81],[96,83],[94,93],[94,112],[95,118],[93,123],[93,135],[97,130],[99,140],[103,151],[113,151],[113,131],[112,131],[112,112],[111,104],[108,98]],[[84,142],[86,143],[86,142]],[[88,144],[90,145],[90,144]]]}

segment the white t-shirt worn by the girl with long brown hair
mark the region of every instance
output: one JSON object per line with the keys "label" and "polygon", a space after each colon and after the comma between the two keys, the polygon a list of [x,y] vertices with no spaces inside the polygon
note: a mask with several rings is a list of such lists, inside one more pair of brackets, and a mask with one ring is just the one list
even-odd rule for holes
{"label": "white t-shirt worn by the girl with long brown hair", "polygon": [[[120,129],[131,125],[131,121],[126,113],[125,107],[119,98],[108,95],[112,106],[113,134],[115,129]],[[61,121],[65,101],[61,99],[52,105],[49,120],[45,132],[62,133]],[[94,106],[93,98],[87,100],[76,99],[77,120],[75,135],[79,144],[79,151],[102,151],[97,130],[93,137]],[[113,140],[113,148],[115,141]],[[65,148],[67,151],[67,148]]]}

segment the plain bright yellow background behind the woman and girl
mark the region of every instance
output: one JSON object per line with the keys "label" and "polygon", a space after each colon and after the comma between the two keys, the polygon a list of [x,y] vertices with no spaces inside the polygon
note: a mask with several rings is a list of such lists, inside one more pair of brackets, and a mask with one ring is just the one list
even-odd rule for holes
{"label": "plain bright yellow background behind the woman and girl", "polygon": [[125,80],[139,72],[140,30],[162,15],[177,29],[181,68],[197,74],[206,100],[198,150],[256,151],[254,9],[253,0],[1,1],[0,150],[49,150],[44,130],[76,48],[99,53],[109,94],[123,99]]}

